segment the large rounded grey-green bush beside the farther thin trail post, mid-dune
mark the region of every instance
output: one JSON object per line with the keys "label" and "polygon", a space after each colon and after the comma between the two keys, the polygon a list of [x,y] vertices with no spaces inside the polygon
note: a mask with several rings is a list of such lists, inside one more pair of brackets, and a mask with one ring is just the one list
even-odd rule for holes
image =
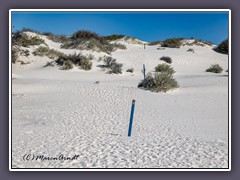
{"label": "large rounded grey-green bush beside the farther thin trail post, mid-dune", "polygon": [[174,79],[174,69],[167,64],[160,64],[155,67],[155,73],[148,73],[146,78],[139,83],[138,87],[143,87],[154,92],[167,92],[179,87]]}

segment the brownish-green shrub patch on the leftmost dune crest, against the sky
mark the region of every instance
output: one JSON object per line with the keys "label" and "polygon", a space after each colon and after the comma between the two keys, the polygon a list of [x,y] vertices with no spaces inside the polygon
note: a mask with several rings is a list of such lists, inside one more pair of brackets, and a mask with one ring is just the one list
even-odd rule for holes
{"label": "brownish-green shrub patch on the leftmost dune crest, against the sky", "polygon": [[33,45],[46,44],[45,41],[37,36],[29,37],[23,32],[15,32],[12,35],[13,45],[29,47]]}

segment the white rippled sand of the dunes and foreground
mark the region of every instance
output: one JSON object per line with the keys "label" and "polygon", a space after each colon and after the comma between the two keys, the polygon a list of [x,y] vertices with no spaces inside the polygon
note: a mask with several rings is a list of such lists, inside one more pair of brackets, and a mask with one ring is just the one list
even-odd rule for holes
{"label": "white rippled sand of the dunes and foreground", "polygon": [[[45,41],[64,53],[78,52]],[[144,50],[126,44],[127,50],[112,53],[123,63],[121,75],[96,67],[104,55],[96,52],[91,71],[44,68],[50,60],[32,55],[31,64],[13,66],[21,76],[12,81],[13,167],[228,168],[228,76],[205,72],[215,63],[227,70],[228,56],[209,46]],[[180,88],[168,93],[137,88],[142,65],[153,71],[161,56],[172,58]],[[133,74],[125,72],[131,67]],[[132,99],[133,132],[127,137]],[[25,154],[79,158],[24,161]]]}

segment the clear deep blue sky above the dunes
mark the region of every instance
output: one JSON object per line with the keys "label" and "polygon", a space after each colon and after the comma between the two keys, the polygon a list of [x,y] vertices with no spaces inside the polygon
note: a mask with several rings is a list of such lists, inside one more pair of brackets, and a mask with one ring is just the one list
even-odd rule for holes
{"label": "clear deep blue sky above the dunes", "polygon": [[14,31],[71,35],[90,30],[99,35],[124,34],[144,41],[197,38],[219,44],[228,38],[227,12],[12,12]]}

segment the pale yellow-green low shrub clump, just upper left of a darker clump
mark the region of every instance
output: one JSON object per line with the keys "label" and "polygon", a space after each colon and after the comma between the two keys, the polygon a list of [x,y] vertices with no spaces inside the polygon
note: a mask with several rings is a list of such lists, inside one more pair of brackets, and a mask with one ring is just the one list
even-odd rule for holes
{"label": "pale yellow-green low shrub clump, just upper left of a darker clump", "polygon": [[57,51],[55,49],[50,49],[47,46],[39,46],[35,51],[33,51],[34,56],[47,56],[50,59],[56,59],[60,56],[64,56],[64,53]]}

